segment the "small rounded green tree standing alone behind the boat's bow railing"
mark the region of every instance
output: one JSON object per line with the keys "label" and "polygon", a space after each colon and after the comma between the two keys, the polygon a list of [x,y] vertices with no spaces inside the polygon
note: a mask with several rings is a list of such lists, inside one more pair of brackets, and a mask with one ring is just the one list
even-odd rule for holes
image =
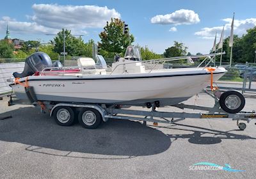
{"label": "small rounded green tree standing alone behind the boat's bow railing", "polygon": [[174,41],[174,45],[165,49],[164,57],[186,56],[188,47],[184,46],[184,43]]}

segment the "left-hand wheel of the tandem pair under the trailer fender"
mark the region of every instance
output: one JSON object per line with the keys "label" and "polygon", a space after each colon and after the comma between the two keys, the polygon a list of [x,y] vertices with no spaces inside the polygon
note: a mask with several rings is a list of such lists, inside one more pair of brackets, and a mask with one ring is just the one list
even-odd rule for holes
{"label": "left-hand wheel of the tandem pair under the trailer fender", "polygon": [[56,107],[56,109],[54,109],[53,116],[58,125],[70,126],[74,123],[75,114],[71,107]]}

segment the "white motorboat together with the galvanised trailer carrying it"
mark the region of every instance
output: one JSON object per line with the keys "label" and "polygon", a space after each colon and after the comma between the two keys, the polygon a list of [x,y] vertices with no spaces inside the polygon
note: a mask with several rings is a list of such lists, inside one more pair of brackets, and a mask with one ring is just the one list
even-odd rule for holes
{"label": "white motorboat together with the galvanised trailer carrying it", "polygon": [[[97,56],[97,63],[93,59],[85,58],[78,59],[78,66],[52,67],[51,59],[47,54],[36,52],[26,59],[24,71],[21,74],[17,72],[13,74],[15,80],[10,86],[17,98],[28,98],[31,103],[39,104],[42,111],[49,109],[51,116],[53,115],[60,125],[72,125],[74,114],[79,113],[78,120],[83,127],[96,128],[101,121],[107,121],[109,118],[125,118],[117,116],[116,113],[131,114],[131,111],[122,109],[125,105],[151,108],[150,114],[154,115],[151,115],[150,119],[137,118],[137,120],[144,119],[143,121],[156,121],[154,116],[170,116],[170,118],[225,116],[225,118],[237,120],[234,114],[239,113],[244,107],[243,95],[237,91],[222,93],[213,86],[213,83],[227,72],[223,67],[208,66],[214,56],[220,54],[223,53],[142,61],[139,48],[129,46],[124,58],[116,58],[109,69],[102,56]],[[156,68],[163,63],[179,59],[188,59],[193,63],[193,58],[204,58],[204,61],[194,68]],[[209,62],[200,67],[207,60]],[[209,84],[216,100],[214,113],[195,115],[156,111],[156,107],[166,105],[177,107],[180,102],[200,93]],[[9,104],[15,104],[12,96]],[[221,112],[228,113],[228,116],[220,114]],[[138,113],[145,116],[149,114]],[[255,118],[251,113],[248,113],[247,117],[244,115],[239,120]],[[136,118],[133,119],[136,120]],[[167,121],[167,123],[172,122],[173,120]],[[239,128],[245,128],[244,125],[239,126]]]}

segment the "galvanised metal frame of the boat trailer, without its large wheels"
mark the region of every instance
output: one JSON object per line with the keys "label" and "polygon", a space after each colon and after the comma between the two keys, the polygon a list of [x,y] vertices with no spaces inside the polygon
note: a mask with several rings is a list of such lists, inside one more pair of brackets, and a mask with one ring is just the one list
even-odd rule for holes
{"label": "galvanised metal frame of the boat trailer, without its large wheels", "polygon": [[[57,107],[72,107],[74,110],[81,109],[95,109],[100,113],[102,117],[102,121],[106,122],[109,119],[117,119],[117,120],[135,120],[135,121],[143,121],[143,124],[147,125],[147,122],[153,122],[154,125],[158,125],[158,123],[168,123],[173,124],[177,121],[185,120],[186,118],[212,118],[212,119],[232,119],[233,121],[237,121],[237,126],[244,130],[246,128],[245,123],[239,123],[239,121],[247,121],[249,123],[252,119],[256,118],[256,113],[253,110],[252,112],[241,111],[236,114],[226,113],[221,109],[220,104],[218,102],[218,94],[215,93],[212,95],[208,91],[204,90],[205,93],[214,98],[215,104],[214,107],[204,107],[199,105],[187,105],[183,103],[172,105],[172,107],[177,107],[179,109],[195,109],[200,111],[205,111],[205,113],[188,113],[188,112],[166,112],[166,111],[158,111],[156,104],[152,104],[150,111],[143,110],[131,110],[124,109],[127,106],[123,105],[110,105],[106,104],[87,104],[87,103],[70,103],[70,102],[60,102],[58,104],[53,104],[50,101],[47,102],[39,102],[41,105],[41,111],[43,113],[46,112],[45,109],[50,110],[50,116],[53,115],[54,110]],[[10,100],[8,101],[8,105],[14,104],[29,104],[29,103],[19,103],[13,100],[12,95],[9,95]],[[34,102],[34,105],[38,105],[38,102]],[[44,105],[44,107],[42,107]],[[127,116],[124,116],[127,115]],[[134,117],[135,115],[135,117]],[[140,117],[138,117],[140,116]],[[159,118],[159,119],[157,119]],[[255,123],[256,125],[256,123]]]}

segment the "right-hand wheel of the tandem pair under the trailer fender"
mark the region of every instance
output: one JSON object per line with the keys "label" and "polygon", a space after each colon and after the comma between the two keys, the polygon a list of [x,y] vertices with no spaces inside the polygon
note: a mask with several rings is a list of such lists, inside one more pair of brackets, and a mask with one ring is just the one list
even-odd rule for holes
{"label": "right-hand wheel of the tandem pair under the trailer fender", "polygon": [[102,122],[102,116],[96,109],[84,108],[79,112],[78,121],[84,128],[97,128]]}

